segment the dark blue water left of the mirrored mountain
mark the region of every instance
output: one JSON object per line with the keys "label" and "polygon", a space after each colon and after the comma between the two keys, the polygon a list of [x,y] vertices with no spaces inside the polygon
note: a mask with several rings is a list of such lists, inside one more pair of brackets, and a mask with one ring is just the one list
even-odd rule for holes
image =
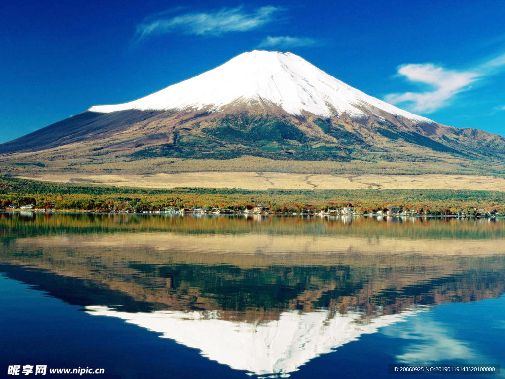
{"label": "dark blue water left of the mirrored mountain", "polygon": [[89,316],[81,307],[5,276],[0,277],[0,288],[0,361],[5,377],[8,365],[15,364],[104,368],[104,375],[95,376],[107,378],[245,377],[157,333]]}

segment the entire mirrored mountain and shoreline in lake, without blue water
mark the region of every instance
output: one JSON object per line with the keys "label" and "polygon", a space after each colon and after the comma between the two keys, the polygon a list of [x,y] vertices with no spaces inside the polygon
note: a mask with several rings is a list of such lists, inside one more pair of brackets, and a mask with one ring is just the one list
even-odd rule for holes
{"label": "entire mirrored mountain and shoreline in lake, without blue water", "polygon": [[0,214],[0,233],[0,272],[255,374],[505,288],[503,220]]}

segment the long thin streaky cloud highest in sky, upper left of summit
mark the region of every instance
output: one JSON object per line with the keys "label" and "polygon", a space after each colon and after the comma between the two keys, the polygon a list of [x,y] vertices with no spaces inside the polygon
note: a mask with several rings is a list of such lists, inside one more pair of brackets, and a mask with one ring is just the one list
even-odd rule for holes
{"label": "long thin streaky cloud highest in sky, upper left of summit", "polygon": [[175,17],[149,17],[148,22],[137,25],[136,34],[141,40],[152,34],[180,32],[194,35],[220,35],[257,29],[275,20],[282,9],[262,7],[245,13],[242,7],[221,9],[207,13],[186,13]]}

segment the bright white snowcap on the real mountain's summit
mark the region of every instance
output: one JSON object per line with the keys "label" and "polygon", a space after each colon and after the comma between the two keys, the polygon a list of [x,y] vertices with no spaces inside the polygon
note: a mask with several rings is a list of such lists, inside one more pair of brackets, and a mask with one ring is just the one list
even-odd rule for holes
{"label": "bright white snowcap on the real mountain's summit", "polygon": [[[194,78],[144,98],[98,105],[92,112],[138,110],[221,110],[228,105],[262,102],[292,115],[310,112],[325,118],[346,113],[364,117],[374,108],[417,122],[433,121],[373,98],[292,53],[252,51]],[[360,109],[361,108],[361,109]]]}

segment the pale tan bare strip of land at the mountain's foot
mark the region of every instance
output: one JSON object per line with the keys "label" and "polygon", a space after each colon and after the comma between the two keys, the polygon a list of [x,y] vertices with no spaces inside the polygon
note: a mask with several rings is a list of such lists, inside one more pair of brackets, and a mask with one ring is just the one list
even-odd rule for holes
{"label": "pale tan bare strip of land at the mountain's foot", "polygon": [[19,176],[56,182],[145,188],[215,187],[278,189],[473,189],[505,192],[505,178],[478,175],[330,175],[279,172],[188,172],[170,174],[38,174]]}

